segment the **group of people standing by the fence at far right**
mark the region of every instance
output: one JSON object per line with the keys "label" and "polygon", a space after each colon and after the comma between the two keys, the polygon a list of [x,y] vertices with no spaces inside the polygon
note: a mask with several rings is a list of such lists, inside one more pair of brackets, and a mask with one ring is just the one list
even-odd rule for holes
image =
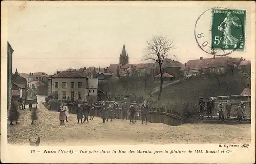
{"label": "group of people standing by the fence at far right", "polygon": [[[205,109],[207,110],[208,117],[212,117],[212,111],[214,109],[214,99],[209,98],[207,103],[205,103],[204,99],[201,97],[199,101],[199,107],[200,107],[200,117],[204,115]],[[226,101],[225,105],[223,102],[219,102],[217,106],[217,115],[219,117],[219,120],[229,119],[231,114],[232,104],[229,100]],[[240,122],[242,119],[245,119],[245,109],[246,106],[243,101],[240,101],[240,104],[238,107],[234,110],[237,113],[237,120]],[[225,114],[226,112],[226,114]],[[225,117],[226,115],[226,117]]]}

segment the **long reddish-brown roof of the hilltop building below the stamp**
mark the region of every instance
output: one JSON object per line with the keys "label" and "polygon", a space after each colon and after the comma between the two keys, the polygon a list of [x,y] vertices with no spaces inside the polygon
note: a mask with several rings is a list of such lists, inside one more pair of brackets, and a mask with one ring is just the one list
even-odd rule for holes
{"label": "long reddish-brown roof of the hilltop building below the stamp", "polygon": [[231,57],[216,57],[216,58],[205,58],[202,60],[200,59],[189,60],[187,63],[182,65],[180,70],[224,67],[228,63],[230,63],[231,65],[234,64],[232,62]]}

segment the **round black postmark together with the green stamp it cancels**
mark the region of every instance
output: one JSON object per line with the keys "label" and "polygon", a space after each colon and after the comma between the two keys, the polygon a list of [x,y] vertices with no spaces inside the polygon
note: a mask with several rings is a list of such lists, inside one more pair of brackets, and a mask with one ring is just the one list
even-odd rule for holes
{"label": "round black postmark together with the green stamp it cancels", "polygon": [[245,50],[246,10],[211,8],[196,20],[194,35],[207,54],[226,56]]}

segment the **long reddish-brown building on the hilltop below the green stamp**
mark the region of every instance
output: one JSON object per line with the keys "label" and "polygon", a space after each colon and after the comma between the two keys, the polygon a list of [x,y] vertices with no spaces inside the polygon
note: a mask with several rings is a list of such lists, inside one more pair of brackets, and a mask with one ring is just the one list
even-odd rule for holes
{"label": "long reddish-brown building on the hilltop below the green stamp", "polygon": [[180,69],[182,76],[189,74],[206,74],[206,73],[217,73],[222,74],[228,71],[232,71],[238,67],[241,58],[231,57],[213,57],[213,58],[202,58],[196,60],[189,60]]}

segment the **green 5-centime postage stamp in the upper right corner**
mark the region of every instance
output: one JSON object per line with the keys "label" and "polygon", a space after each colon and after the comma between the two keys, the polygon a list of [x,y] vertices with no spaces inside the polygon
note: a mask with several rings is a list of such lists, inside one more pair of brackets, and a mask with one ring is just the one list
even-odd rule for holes
{"label": "green 5-centime postage stamp in the upper right corner", "polygon": [[245,50],[245,10],[212,9],[211,49]]}

